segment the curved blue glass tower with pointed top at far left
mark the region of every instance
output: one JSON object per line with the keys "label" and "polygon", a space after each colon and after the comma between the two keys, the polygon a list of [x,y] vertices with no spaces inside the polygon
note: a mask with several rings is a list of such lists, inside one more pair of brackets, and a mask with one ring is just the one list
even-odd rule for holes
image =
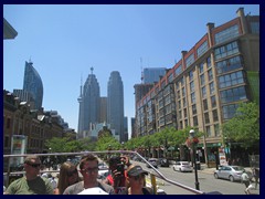
{"label": "curved blue glass tower with pointed top at far left", "polygon": [[23,90],[32,95],[35,104],[34,108],[40,109],[42,107],[43,100],[43,85],[41,76],[32,64],[33,63],[31,61],[25,62]]}

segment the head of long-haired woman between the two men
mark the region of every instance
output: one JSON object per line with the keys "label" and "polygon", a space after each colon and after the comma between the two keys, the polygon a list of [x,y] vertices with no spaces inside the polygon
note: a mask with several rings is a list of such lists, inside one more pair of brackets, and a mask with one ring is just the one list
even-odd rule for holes
{"label": "head of long-haired woman between the two men", "polygon": [[59,192],[62,195],[68,186],[76,184],[78,179],[76,166],[70,161],[63,163],[59,174]]}

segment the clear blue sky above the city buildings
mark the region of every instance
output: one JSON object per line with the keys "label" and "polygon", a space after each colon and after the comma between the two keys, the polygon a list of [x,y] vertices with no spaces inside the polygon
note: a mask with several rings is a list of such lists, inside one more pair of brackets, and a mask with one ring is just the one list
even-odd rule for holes
{"label": "clear blue sky above the city buildings", "polygon": [[[124,82],[125,116],[135,116],[134,85],[142,67],[172,67],[205,33],[258,4],[6,4],[3,17],[18,31],[3,41],[3,88],[23,87],[25,61],[33,62],[44,86],[43,107],[57,111],[77,130],[81,76],[94,67],[100,96],[112,71]],[[140,63],[142,59],[142,64]]]}

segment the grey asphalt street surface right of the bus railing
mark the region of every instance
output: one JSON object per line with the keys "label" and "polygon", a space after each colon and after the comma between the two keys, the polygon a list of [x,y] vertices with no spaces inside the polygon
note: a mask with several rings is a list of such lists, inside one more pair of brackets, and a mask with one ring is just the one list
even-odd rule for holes
{"label": "grey asphalt street surface right of the bus railing", "polygon": [[[152,169],[147,168],[146,164],[134,161],[134,164],[142,166],[144,169],[151,171]],[[173,181],[183,184],[188,187],[195,188],[194,181],[194,171],[193,172],[179,172],[173,171],[172,167],[158,167],[158,170],[165,175],[166,178],[171,179]],[[198,170],[198,179],[200,182],[200,190],[203,192],[214,192],[218,191],[222,195],[245,195],[244,189],[245,185],[239,182],[231,182],[229,180],[215,179],[213,177],[214,168],[202,168],[202,170]],[[155,172],[155,171],[152,171]],[[163,189],[167,195],[194,195],[188,190],[179,188],[174,185],[170,185],[169,182],[157,178],[158,185],[160,189]],[[259,185],[256,190],[251,190],[253,195],[259,195]]]}

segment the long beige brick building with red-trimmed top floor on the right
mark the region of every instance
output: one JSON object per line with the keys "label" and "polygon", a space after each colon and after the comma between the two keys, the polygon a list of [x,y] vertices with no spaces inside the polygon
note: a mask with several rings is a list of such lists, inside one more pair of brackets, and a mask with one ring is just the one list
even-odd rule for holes
{"label": "long beige brick building with red-trimmed top floor on the right", "polygon": [[[259,17],[237,17],[206,33],[136,105],[137,136],[165,127],[205,132],[199,144],[203,159],[222,145],[221,124],[241,102],[259,96]],[[211,159],[208,159],[209,161]]]}

